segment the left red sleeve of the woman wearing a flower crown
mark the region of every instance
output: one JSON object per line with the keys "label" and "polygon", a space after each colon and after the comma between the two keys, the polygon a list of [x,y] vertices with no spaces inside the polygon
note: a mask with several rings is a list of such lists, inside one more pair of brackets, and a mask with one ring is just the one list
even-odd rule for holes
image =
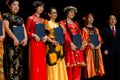
{"label": "left red sleeve of the woman wearing a flower crown", "polygon": [[63,28],[63,31],[64,31],[65,43],[67,43],[67,44],[72,43],[71,36],[70,36],[70,34],[68,33],[68,31],[66,30],[66,27],[65,27],[66,26],[65,21],[60,21],[60,26]]}

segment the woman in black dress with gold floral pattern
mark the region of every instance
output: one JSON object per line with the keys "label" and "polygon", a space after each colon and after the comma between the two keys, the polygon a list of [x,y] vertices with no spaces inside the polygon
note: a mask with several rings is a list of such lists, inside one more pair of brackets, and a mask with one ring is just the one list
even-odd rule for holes
{"label": "woman in black dress with gold floral pattern", "polygon": [[[23,18],[18,16],[19,1],[9,0],[9,12],[3,13],[4,26],[6,31],[5,38],[5,78],[6,80],[23,80],[23,46],[27,44],[27,34]],[[19,42],[13,32],[14,26],[23,27],[24,39]]]}

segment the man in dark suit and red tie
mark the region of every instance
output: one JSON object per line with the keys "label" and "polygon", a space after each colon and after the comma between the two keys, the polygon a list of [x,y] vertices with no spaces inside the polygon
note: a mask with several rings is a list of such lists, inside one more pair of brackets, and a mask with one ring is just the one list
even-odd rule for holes
{"label": "man in dark suit and red tie", "polygon": [[120,80],[120,29],[116,16],[110,15],[108,23],[103,29],[105,80]]}

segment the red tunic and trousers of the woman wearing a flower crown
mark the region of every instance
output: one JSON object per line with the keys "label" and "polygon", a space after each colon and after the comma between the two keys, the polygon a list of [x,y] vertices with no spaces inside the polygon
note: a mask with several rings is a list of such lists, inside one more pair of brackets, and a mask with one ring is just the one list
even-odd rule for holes
{"label": "red tunic and trousers of the woman wearing a flower crown", "polygon": [[[81,63],[84,62],[83,52],[81,50],[73,51],[70,43],[72,43],[71,35],[81,34],[79,25],[74,23],[66,23],[66,20],[60,21],[60,25],[65,28],[65,62],[67,66],[68,80],[80,80],[81,78]],[[69,29],[69,31],[68,31]]]}

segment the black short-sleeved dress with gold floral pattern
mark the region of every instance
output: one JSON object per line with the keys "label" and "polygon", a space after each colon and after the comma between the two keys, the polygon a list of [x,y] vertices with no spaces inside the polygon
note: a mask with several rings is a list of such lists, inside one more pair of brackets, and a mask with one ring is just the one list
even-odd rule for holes
{"label": "black short-sleeved dress with gold floral pattern", "polygon": [[[12,30],[14,26],[22,26],[23,19],[16,14],[4,13],[3,19],[9,21]],[[5,40],[5,76],[7,80],[23,80],[23,47],[14,46],[13,40],[6,35]]]}

